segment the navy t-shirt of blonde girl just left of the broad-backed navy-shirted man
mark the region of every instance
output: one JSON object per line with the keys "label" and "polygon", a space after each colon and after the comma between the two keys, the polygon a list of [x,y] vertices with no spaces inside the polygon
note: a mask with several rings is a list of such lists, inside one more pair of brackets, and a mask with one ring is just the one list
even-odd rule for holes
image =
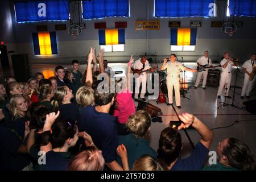
{"label": "navy t-shirt of blonde girl just left of the broad-backed navy-shirted man", "polygon": [[60,119],[68,119],[74,122],[78,122],[81,118],[81,114],[79,113],[79,107],[75,104],[61,104],[59,106],[60,109]]}

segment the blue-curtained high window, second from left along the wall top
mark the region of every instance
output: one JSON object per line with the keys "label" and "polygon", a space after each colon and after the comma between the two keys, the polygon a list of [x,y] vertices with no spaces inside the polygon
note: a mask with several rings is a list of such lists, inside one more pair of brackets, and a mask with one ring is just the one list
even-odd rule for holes
{"label": "blue-curtained high window, second from left along the wall top", "polygon": [[82,1],[82,16],[84,19],[129,17],[129,0]]}

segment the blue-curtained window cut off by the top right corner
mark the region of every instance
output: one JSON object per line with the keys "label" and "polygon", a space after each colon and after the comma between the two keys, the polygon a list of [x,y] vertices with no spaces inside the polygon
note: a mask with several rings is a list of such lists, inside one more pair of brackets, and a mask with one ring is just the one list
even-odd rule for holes
{"label": "blue-curtained window cut off by the top right corner", "polygon": [[228,0],[229,14],[234,16],[256,16],[255,0]]}

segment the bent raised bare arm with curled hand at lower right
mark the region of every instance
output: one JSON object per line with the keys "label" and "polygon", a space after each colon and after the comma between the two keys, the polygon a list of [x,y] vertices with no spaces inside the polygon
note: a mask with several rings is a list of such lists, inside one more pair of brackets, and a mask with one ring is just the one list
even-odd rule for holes
{"label": "bent raised bare arm with curled hand at lower right", "polygon": [[187,129],[189,126],[193,126],[197,133],[201,135],[200,142],[207,148],[210,148],[210,144],[213,139],[213,132],[206,126],[200,119],[189,113],[183,113],[179,115],[180,120],[183,122],[178,127],[178,130]]}

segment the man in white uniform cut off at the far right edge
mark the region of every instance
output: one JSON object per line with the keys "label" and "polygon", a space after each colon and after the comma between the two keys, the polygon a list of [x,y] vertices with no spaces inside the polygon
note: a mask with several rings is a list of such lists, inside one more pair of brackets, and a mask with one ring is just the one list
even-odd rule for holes
{"label": "man in white uniform cut off at the far right edge", "polygon": [[241,93],[242,99],[244,97],[250,99],[250,92],[251,92],[251,89],[253,89],[254,82],[255,82],[255,76],[254,78],[252,78],[252,80],[250,80],[251,74],[253,73],[253,71],[255,71],[255,65],[256,65],[255,57],[256,57],[255,53],[252,53],[251,59],[245,61],[245,63],[243,63],[242,65],[243,72],[245,72],[245,80],[243,80],[243,88]]}

